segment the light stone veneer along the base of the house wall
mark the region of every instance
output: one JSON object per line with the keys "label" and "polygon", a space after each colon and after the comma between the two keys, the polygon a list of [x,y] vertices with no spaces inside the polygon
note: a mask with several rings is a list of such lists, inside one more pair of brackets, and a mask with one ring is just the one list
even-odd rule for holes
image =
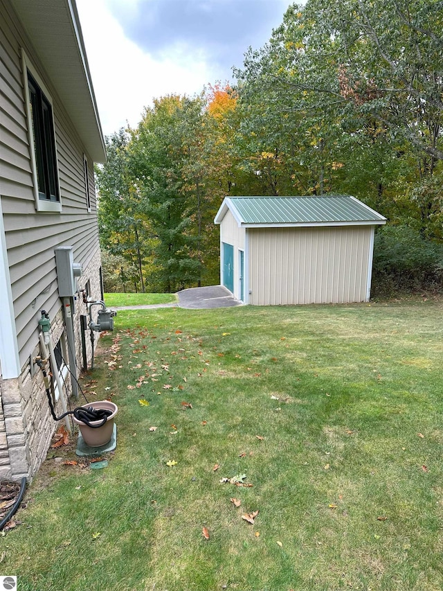
{"label": "light stone veneer along the base of the house wall", "polygon": [[[83,270],[78,279],[78,288],[84,289],[89,281],[90,295],[93,299],[100,299],[100,251],[96,252],[89,265]],[[98,306],[94,306],[93,314],[96,319]],[[82,340],[80,333],[80,315],[89,314],[87,305],[83,303],[82,294],[75,300],[74,333],[75,333],[75,358],[78,367],[82,367]],[[94,335],[98,339],[98,333]],[[62,301],[60,310],[51,318],[51,338],[53,345],[57,344],[60,337],[66,339],[64,332],[64,318]],[[91,365],[91,341],[89,330],[87,331],[87,360]],[[67,348],[64,348],[67,351]],[[35,343],[33,358],[40,355],[40,344]],[[64,355],[65,356],[65,355]],[[66,363],[68,363],[66,355]],[[49,369],[49,368],[48,368]],[[51,445],[51,439],[55,430],[59,427],[55,423],[48,405],[46,389],[44,387],[43,373],[34,365],[35,374],[31,377],[30,360],[21,368],[19,378],[3,380],[0,376],[0,479],[21,480],[26,477],[32,479],[40,464],[46,458],[46,453]],[[48,371],[48,370],[47,370]],[[78,371],[76,372],[78,373]],[[63,390],[65,398],[71,395],[71,377],[65,380],[66,389]],[[73,400],[71,406],[81,403]],[[60,399],[55,407],[58,415],[62,414]],[[64,424],[64,419],[59,422]]]}

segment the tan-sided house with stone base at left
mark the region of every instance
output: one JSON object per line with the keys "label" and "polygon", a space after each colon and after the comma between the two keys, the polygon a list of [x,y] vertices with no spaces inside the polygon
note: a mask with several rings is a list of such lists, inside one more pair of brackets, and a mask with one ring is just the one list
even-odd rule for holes
{"label": "tan-sided house with stone base at left", "polygon": [[[93,163],[105,143],[74,0],[0,0],[0,478],[32,477],[57,424],[42,371],[48,351],[42,310],[63,378],[57,413],[79,369],[91,362],[81,344],[87,297],[102,298]],[[76,265],[66,339],[66,302],[55,251]],[[49,370],[49,366],[48,366]],[[55,377],[55,376],[54,376]],[[51,380],[52,381],[52,380]]]}

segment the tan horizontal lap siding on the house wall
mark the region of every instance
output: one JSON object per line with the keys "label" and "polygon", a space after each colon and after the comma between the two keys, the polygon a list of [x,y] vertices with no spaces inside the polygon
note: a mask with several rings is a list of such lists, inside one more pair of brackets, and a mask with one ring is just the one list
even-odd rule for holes
{"label": "tan horizontal lap siding on the house wall", "polygon": [[[21,47],[44,80],[53,100],[62,213],[35,210]],[[88,213],[84,185],[85,150],[6,0],[0,0],[0,51],[1,203],[19,356],[23,366],[38,342],[40,310],[45,309],[53,318],[61,308],[55,247],[72,246],[75,262],[82,263],[83,267],[97,254],[96,196],[93,163],[88,158],[91,194],[91,213]],[[84,287],[81,279],[79,284]]]}

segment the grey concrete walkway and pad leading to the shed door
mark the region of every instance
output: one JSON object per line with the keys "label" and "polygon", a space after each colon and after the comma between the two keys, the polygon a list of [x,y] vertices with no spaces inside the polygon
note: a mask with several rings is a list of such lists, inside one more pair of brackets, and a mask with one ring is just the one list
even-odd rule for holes
{"label": "grey concrete walkway and pad leading to the shed door", "polygon": [[112,306],[114,310],[151,310],[154,308],[189,308],[203,310],[206,308],[230,308],[242,306],[243,302],[236,299],[224,285],[210,285],[207,288],[190,288],[177,292],[178,302],[153,303],[147,306]]}

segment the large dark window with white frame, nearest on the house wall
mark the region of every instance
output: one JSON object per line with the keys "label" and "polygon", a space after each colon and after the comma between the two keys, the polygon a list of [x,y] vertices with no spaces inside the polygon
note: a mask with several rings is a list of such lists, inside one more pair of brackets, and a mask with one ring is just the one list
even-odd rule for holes
{"label": "large dark window with white frame, nearest on the house wall", "polygon": [[51,97],[23,54],[30,156],[37,211],[62,211]]}

